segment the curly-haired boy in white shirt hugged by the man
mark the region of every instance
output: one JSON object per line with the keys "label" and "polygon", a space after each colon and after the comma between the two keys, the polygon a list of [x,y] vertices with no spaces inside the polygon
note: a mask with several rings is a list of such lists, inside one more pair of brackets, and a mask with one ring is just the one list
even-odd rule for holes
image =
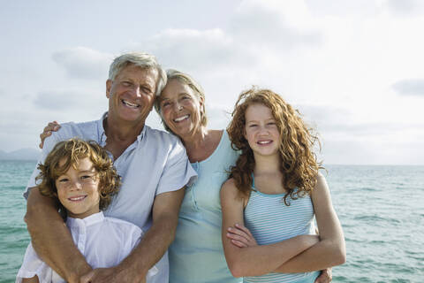
{"label": "curly-haired boy in white shirt hugged by the man", "polygon": [[[95,142],[58,142],[39,164],[42,195],[58,200],[59,210],[79,251],[93,268],[119,264],[139,243],[142,231],[132,223],[104,217],[101,210],[117,194],[120,177],[107,152]],[[157,273],[154,266],[148,277]],[[16,282],[64,282],[35,253],[30,243]]]}

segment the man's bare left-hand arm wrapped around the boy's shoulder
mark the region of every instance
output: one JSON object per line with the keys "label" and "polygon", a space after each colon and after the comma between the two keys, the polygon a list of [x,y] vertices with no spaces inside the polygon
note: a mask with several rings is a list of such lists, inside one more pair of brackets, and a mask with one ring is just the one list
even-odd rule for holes
{"label": "man's bare left-hand arm wrapped around the boy's shoulder", "polygon": [[25,221],[37,255],[62,278],[79,282],[80,276],[91,271],[57,212],[57,201],[41,195],[38,187],[29,188]]}

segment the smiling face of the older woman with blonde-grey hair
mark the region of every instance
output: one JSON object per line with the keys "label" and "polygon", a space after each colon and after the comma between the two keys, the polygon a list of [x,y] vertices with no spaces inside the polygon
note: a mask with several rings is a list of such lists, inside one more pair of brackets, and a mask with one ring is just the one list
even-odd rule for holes
{"label": "smiling face of the older woman with blonde-grey hair", "polygon": [[201,129],[203,101],[192,88],[179,80],[171,79],[158,99],[163,121],[174,134],[184,137]]}

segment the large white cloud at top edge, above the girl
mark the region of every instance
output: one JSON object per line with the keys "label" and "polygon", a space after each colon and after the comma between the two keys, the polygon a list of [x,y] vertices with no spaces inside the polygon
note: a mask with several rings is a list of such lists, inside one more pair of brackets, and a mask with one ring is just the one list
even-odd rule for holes
{"label": "large white cloud at top edge, above the girl", "polygon": [[239,5],[229,33],[259,48],[310,47],[323,42],[323,35],[313,28],[312,20],[302,1],[249,0]]}

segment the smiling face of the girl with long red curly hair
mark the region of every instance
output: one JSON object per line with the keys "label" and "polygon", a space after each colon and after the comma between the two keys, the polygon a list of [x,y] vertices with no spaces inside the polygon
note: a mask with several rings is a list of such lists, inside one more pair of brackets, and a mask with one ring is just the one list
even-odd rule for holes
{"label": "smiling face of the girl with long red curly hair", "polygon": [[280,131],[271,110],[261,103],[251,104],[247,106],[245,119],[245,138],[254,154],[278,154]]}

